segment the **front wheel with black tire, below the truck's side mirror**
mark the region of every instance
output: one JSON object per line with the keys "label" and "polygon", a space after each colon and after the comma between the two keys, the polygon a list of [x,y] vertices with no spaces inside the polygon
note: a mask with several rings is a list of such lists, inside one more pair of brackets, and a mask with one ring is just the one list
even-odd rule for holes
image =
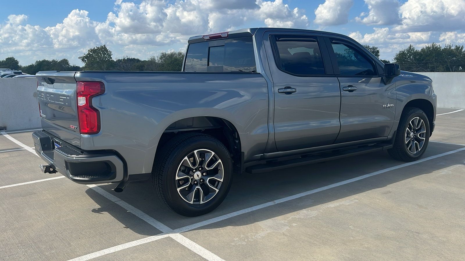
{"label": "front wheel with black tire, below the truck's side mirror", "polygon": [[387,150],[394,159],[412,162],[418,160],[430,140],[430,123],[424,111],[407,107],[402,112],[394,146]]}

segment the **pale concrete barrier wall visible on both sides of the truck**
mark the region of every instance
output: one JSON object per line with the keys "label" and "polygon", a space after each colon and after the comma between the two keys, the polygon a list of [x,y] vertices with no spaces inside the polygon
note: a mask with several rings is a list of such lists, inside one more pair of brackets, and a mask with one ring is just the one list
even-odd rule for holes
{"label": "pale concrete barrier wall visible on both sides of the truck", "polygon": [[[438,107],[465,109],[465,72],[418,72],[433,80]],[[40,127],[35,78],[0,78],[0,129]]]}

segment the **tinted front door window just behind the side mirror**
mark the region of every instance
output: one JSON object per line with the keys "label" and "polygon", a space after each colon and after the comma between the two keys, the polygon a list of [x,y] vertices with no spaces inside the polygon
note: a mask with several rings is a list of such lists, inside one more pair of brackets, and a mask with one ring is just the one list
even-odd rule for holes
{"label": "tinted front door window just behind the side mirror", "polygon": [[365,56],[351,46],[332,43],[340,75],[375,75],[375,70]]}

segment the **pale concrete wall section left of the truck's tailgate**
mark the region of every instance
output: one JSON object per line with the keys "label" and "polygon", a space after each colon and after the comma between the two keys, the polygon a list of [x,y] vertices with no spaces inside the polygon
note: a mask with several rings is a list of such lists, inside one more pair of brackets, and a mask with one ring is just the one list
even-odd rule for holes
{"label": "pale concrete wall section left of the truck's tailgate", "polygon": [[35,78],[0,78],[0,127],[9,130],[40,127]]}

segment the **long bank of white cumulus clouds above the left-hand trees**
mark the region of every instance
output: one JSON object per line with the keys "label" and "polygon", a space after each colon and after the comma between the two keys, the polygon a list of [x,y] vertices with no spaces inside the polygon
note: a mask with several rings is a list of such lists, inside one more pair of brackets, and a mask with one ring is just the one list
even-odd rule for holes
{"label": "long bank of white cumulus clouds above the left-hand trees", "polygon": [[132,54],[145,59],[159,48],[184,47],[192,35],[235,30],[252,21],[274,27],[308,25],[305,11],[290,9],[283,0],[115,0],[114,4],[104,22],[76,9],[62,23],[46,28],[24,26],[27,16],[12,14],[0,24],[0,55],[21,50],[15,57],[26,63],[36,57],[76,63],[88,48],[106,44],[115,57]]}

